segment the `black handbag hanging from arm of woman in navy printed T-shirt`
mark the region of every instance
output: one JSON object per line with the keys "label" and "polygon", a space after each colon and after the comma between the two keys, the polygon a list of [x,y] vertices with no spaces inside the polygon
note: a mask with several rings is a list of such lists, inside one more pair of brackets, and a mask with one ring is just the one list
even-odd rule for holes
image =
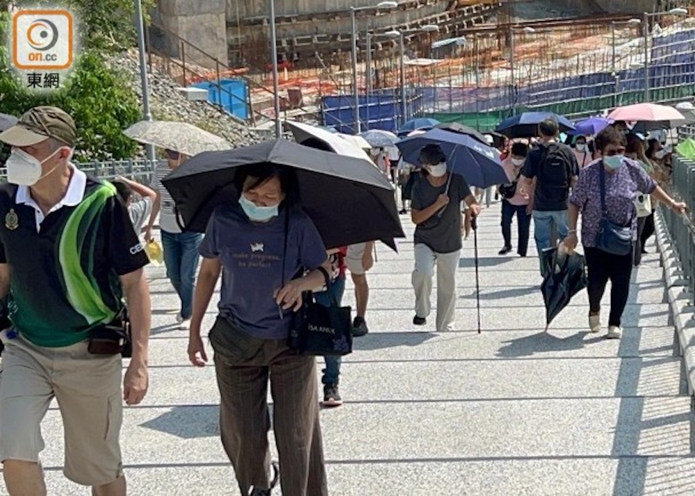
{"label": "black handbag hanging from arm of woman in navy printed T-shirt", "polygon": [[[289,228],[288,207],[285,210],[285,242],[282,253],[282,285],[285,284],[285,258]],[[287,347],[299,355],[342,356],[352,353],[352,308],[338,306],[331,289],[328,272],[319,267],[329,292],[331,304],[323,306],[313,298],[313,292],[302,294],[302,306],[293,315],[293,323],[287,336]]]}

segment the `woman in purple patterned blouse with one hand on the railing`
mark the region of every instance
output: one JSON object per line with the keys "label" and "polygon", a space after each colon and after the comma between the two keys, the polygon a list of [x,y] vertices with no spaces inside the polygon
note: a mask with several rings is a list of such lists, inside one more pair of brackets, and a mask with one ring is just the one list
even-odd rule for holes
{"label": "woman in purple patterned blouse with one hand on the railing", "polygon": [[662,190],[636,162],[625,158],[626,138],[613,126],[596,136],[596,147],[602,158],[581,170],[569,204],[569,236],[564,244],[569,250],[577,246],[577,221],[582,213],[582,245],[589,272],[589,329],[598,333],[600,302],[608,280],[611,281],[610,316],[607,338],[621,337],[620,321],[628,301],[633,254],[614,255],[596,247],[596,237],[603,217],[600,177],[605,177],[605,206],[610,220],[621,226],[631,226],[632,240],[637,237],[637,211],[635,197],[640,193],[652,195],[676,210],[683,212],[684,203],[678,203]]}

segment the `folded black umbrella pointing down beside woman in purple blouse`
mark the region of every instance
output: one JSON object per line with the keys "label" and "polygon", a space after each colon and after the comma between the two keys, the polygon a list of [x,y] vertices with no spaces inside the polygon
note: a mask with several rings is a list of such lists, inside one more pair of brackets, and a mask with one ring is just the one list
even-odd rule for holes
{"label": "folded black umbrella pointing down beside woman in purple blouse", "polygon": [[587,287],[587,264],[583,255],[571,254],[564,247],[541,252],[546,276],[541,284],[546,303],[546,331],[550,322],[569,304],[574,295]]}

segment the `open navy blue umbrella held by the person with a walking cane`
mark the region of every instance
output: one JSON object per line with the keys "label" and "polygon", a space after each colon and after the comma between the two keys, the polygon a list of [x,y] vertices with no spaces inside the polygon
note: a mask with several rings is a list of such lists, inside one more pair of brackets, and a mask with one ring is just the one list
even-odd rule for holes
{"label": "open navy blue umbrella held by the person with a walking cane", "polygon": [[439,144],[447,156],[449,170],[464,176],[469,185],[488,188],[509,182],[502,168],[500,153],[466,134],[430,129],[425,134],[405,138],[396,146],[400,149],[403,160],[418,165],[420,149],[426,144]]}

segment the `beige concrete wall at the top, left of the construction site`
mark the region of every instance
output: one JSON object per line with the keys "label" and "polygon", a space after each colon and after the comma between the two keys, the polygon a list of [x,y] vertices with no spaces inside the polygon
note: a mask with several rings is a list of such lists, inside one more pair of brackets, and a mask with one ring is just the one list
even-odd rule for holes
{"label": "beige concrete wall at the top, left of the construction site", "polygon": [[[159,0],[157,8],[164,28],[227,63],[226,0]],[[198,65],[215,67],[213,59],[202,53],[189,52],[188,57]]]}

